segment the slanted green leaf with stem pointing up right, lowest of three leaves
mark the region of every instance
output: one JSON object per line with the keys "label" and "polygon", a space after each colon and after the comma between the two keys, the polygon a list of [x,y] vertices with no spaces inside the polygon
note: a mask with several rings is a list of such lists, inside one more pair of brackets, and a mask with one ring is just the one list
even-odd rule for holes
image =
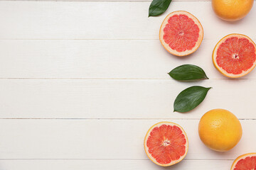
{"label": "slanted green leaf with stem pointing up right, lowest of three leaves", "polygon": [[185,113],[196,108],[204,98],[211,87],[191,86],[181,91],[174,101],[174,111]]}

